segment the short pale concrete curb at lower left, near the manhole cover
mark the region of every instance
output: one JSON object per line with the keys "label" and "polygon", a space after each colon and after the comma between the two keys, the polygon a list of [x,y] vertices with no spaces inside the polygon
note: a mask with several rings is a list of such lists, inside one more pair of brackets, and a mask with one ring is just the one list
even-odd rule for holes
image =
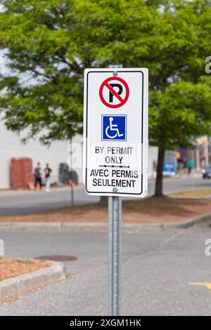
{"label": "short pale concrete curb at lower left, near the manhole cover", "polygon": [[0,282],[0,299],[19,296],[37,286],[65,279],[65,266],[63,263],[49,262],[51,265],[47,268],[2,280]]}

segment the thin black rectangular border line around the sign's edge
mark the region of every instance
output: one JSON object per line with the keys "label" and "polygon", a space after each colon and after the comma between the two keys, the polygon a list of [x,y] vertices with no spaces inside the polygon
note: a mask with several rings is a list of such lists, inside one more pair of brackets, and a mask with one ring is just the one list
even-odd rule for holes
{"label": "thin black rectangular border line around the sign's edge", "polygon": [[[88,81],[89,81],[89,74],[90,73],[113,73],[113,70],[112,71],[110,71],[110,70],[103,70],[103,71],[89,71],[89,72],[87,72],[87,102],[86,102],[86,139],[88,138],[88,124],[87,124],[87,122],[88,122]],[[141,71],[141,70],[139,70],[139,71],[137,71],[137,70],[135,70],[135,71],[133,71],[133,70],[130,70],[130,71],[128,71],[128,70],[121,70],[121,71],[119,71],[119,72],[140,72],[141,74],[142,74],[142,81],[143,81],[143,79],[144,79],[144,74],[143,74],[143,72]],[[136,194],[136,193],[129,193],[129,192],[89,192],[89,190],[87,190],[87,140],[86,140],[86,185],[85,185],[85,187],[86,187],[86,190],[87,190],[87,192],[89,192],[90,194],[98,194],[98,195],[100,195],[101,196],[101,194],[108,194],[108,195],[110,195],[110,196],[112,196],[112,194],[113,195],[117,195],[117,194],[119,194],[119,195],[124,195],[124,194],[132,194],[132,195],[140,195],[140,194],[142,194],[142,192],[143,192],[143,84],[142,84],[142,103],[141,103],[141,161],[142,161],[142,164],[141,164],[141,192],[139,193],[139,194]]]}

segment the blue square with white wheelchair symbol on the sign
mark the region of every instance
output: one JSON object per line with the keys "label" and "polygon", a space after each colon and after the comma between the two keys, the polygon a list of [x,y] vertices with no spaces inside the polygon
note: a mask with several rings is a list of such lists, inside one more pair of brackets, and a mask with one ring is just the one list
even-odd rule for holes
{"label": "blue square with white wheelchair symbol on the sign", "polygon": [[102,140],[126,141],[127,115],[102,114]]}

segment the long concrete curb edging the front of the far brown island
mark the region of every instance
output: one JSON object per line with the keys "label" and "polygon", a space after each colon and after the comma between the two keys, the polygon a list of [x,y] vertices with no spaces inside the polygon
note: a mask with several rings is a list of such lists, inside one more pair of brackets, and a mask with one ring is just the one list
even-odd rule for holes
{"label": "long concrete curb edging the front of the far brown island", "polygon": [[[143,228],[188,228],[211,220],[211,212],[177,223],[122,223],[123,230],[141,230]],[[0,230],[107,230],[108,223],[1,223]]]}

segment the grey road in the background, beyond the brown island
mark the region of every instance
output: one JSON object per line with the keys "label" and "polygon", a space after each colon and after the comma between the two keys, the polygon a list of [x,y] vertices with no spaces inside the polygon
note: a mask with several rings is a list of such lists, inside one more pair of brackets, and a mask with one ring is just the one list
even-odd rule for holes
{"label": "grey road in the background, beyond the brown island", "polygon": [[[164,192],[177,192],[201,187],[211,187],[211,180],[201,178],[165,179]],[[148,196],[153,194],[155,182],[148,183]],[[88,196],[82,185],[75,189],[75,204],[87,204],[98,202],[99,197]],[[1,191],[0,192],[0,216],[12,216],[15,214],[32,213],[46,209],[58,208],[70,205],[70,189],[58,188],[51,192],[39,191]]]}

